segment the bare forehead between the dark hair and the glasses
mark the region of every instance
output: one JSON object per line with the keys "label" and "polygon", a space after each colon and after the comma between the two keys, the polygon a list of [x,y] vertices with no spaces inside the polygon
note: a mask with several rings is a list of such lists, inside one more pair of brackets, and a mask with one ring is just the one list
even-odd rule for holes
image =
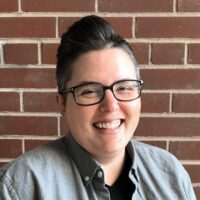
{"label": "bare forehead between the dark hair and the glasses", "polygon": [[82,54],[73,64],[71,82],[96,81],[111,84],[120,79],[135,79],[130,56],[120,48],[107,48]]}

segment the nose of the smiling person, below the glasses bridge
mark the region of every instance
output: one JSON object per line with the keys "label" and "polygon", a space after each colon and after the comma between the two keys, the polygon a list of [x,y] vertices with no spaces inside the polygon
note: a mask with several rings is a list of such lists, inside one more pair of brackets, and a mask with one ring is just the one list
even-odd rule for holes
{"label": "nose of the smiling person, below the glasses bridge", "polygon": [[106,90],[103,101],[100,103],[101,112],[114,112],[119,109],[118,100],[114,97],[112,91]]}

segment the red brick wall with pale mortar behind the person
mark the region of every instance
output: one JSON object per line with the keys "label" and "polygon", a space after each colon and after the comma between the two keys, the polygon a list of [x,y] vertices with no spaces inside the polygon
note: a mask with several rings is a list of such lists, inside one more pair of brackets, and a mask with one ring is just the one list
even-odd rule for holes
{"label": "red brick wall with pale mortar behind the person", "polygon": [[200,0],[1,0],[0,165],[64,134],[56,48],[88,14],[105,17],[141,64],[136,138],[175,154],[200,198]]}

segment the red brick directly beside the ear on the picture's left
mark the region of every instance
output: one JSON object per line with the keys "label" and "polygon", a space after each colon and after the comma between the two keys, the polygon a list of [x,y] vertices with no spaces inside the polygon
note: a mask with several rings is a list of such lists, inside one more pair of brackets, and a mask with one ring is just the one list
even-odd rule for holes
{"label": "red brick directly beside the ear on the picture's left", "polygon": [[56,93],[24,93],[25,112],[58,112]]}

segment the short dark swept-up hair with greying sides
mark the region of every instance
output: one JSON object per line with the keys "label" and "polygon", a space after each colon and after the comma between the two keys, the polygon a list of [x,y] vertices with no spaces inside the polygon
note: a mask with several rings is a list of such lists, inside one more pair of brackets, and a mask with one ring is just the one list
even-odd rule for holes
{"label": "short dark swept-up hair with greying sides", "polygon": [[56,78],[58,92],[62,94],[66,90],[67,82],[72,75],[72,65],[81,54],[107,47],[121,48],[128,53],[136,68],[137,78],[140,79],[139,66],[128,42],[116,34],[105,19],[90,15],[75,22],[62,35],[57,52]]}

